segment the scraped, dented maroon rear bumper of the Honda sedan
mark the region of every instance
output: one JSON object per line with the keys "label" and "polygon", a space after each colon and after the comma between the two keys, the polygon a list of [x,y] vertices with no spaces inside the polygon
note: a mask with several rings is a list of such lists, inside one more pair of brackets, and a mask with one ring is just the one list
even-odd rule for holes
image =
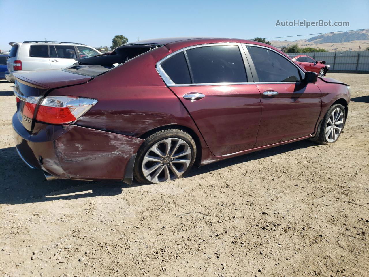
{"label": "scraped, dented maroon rear bumper of the Honda sedan", "polygon": [[30,134],[16,114],[12,123],[17,152],[31,168],[59,179],[132,181],[131,168],[127,167],[133,167],[132,157],[144,141],[141,138],[49,124]]}

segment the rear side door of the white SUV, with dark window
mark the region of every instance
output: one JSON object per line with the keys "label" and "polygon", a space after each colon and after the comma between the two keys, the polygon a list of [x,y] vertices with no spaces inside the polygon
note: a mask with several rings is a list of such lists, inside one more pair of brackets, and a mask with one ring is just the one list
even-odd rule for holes
{"label": "rear side door of the white SUV, with dark window", "polygon": [[75,64],[77,52],[75,46],[70,45],[49,45],[50,64],[52,69],[66,68]]}

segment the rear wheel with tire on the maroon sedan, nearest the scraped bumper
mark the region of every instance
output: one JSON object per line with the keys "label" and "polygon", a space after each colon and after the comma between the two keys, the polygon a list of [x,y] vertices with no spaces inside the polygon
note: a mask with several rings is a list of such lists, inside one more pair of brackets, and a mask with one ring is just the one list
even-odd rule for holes
{"label": "rear wheel with tire on the maroon sedan, nearest the scraped bumper", "polygon": [[162,129],[146,137],[139,148],[133,174],[141,184],[173,181],[190,171],[196,143],[181,129]]}

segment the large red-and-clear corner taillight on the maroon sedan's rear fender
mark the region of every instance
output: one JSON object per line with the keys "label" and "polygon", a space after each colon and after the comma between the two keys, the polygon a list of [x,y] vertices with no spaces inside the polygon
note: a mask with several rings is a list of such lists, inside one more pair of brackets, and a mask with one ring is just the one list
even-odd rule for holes
{"label": "large red-and-clear corner taillight on the maroon sedan's rear fender", "polygon": [[41,101],[36,119],[51,124],[71,123],[96,103],[95,99],[77,96],[48,96]]}

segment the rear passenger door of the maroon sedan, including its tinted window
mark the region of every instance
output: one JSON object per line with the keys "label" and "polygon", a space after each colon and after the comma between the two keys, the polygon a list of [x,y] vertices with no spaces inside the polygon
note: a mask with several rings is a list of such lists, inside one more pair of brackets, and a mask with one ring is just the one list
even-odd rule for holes
{"label": "rear passenger door of the maroon sedan, including its tinted window", "polygon": [[158,70],[214,155],[254,147],[261,118],[260,93],[248,64],[245,68],[241,45],[189,47],[169,55]]}

